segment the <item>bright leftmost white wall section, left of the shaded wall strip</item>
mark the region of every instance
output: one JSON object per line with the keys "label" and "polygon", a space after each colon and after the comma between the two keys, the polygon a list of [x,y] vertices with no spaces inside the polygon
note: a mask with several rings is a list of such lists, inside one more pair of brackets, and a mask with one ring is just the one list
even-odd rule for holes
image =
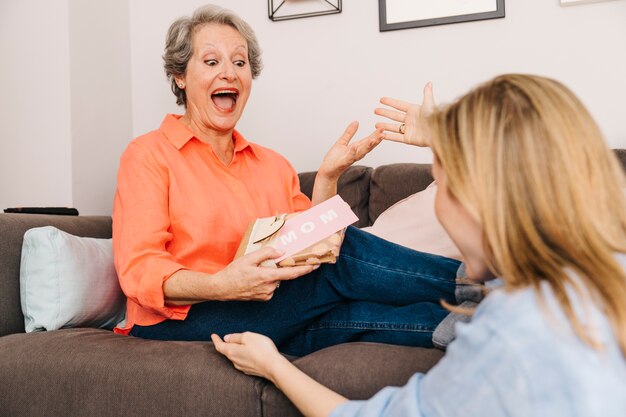
{"label": "bright leftmost white wall section, left of the shaded wall strip", "polygon": [[67,1],[0,2],[0,208],[72,204]]}

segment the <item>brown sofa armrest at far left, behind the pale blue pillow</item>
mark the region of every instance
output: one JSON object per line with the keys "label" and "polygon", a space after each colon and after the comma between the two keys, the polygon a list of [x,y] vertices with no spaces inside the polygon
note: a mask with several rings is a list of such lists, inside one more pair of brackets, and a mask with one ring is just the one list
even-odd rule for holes
{"label": "brown sofa armrest at far left, behind the pale blue pillow", "polygon": [[83,237],[110,238],[109,216],[0,214],[0,336],[24,332],[20,304],[22,240],[28,229],[54,226]]}

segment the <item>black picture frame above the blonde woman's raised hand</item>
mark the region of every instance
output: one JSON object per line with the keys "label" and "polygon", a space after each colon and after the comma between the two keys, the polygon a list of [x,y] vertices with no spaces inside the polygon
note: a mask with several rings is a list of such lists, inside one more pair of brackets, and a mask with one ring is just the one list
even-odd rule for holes
{"label": "black picture frame above the blonde woman's raised hand", "polygon": [[504,0],[378,0],[380,31],[504,17]]}

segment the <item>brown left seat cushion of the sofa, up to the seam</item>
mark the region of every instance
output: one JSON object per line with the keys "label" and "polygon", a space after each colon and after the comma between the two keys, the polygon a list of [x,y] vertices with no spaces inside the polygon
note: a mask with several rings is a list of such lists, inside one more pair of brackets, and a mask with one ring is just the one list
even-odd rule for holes
{"label": "brown left seat cushion of the sofa, up to the seam", "polygon": [[260,416],[261,379],[211,343],[163,342],[108,330],[0,338],[2,416]]}

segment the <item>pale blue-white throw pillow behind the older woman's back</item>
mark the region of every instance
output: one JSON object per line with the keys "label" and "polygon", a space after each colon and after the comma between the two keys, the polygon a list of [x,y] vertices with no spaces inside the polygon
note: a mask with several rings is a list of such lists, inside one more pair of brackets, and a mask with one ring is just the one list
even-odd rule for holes
{"label": "pale blue-white throw pillow behind the older woman's back", "polygon": [[73,236],[55,227],[24,234],[20,298],[26,332],[64,327],[111,329],[124,319],[111,239]]}

